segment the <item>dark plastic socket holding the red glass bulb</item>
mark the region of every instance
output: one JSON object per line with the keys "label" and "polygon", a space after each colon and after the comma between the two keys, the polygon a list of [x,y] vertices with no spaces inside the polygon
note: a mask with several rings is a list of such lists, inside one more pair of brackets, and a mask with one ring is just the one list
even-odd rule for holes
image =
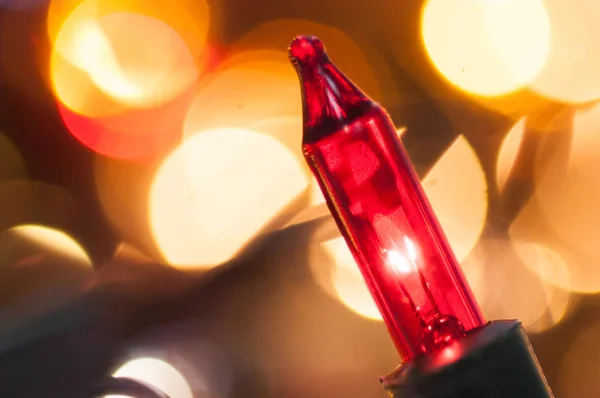
{"label": "dark plastic socket holding the red glass bulb", "polygon": [[394,398],[553,398],[525,330],[495,321],[382,378]]}

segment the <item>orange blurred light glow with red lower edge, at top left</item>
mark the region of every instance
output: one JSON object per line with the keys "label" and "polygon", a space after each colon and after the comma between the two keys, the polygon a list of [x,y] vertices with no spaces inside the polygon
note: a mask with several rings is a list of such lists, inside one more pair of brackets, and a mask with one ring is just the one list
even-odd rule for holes
{"label": "orange blurred light glow with red lower edge, at top left", "polygon": [[52,3],[51,84],[65,125],[84,145],[138,159],[180,140],[208,23],[207,6],[197,3],[206,15],[195,22],[199,38],[191,41],[189,12],[183,14],[196,8],[187,1]]}

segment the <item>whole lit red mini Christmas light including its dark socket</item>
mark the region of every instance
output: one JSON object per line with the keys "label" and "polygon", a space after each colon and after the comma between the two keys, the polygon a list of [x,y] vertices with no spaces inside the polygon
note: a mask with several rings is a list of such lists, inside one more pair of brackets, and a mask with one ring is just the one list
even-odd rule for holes
{"label": "whole lit red mini Christmas light including its dark socket", "polygon": [[550,398],[518,321],[486,323],[386,111],[316,37],[290,59],[302,149],[404,359],[382,378],[397,398]]}

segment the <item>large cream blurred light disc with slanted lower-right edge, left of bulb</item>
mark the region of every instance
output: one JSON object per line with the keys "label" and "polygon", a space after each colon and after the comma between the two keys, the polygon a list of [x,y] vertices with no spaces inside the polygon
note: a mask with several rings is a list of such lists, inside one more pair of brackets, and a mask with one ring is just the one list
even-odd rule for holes
{"label": "large cream blurred light disc with slanted lower-right edge, left of bulb", "polygon": [[150,223],[173,265],[229,260],[308,185],[298,160],[278,141],[223,128],[188,139],[157,172]]}

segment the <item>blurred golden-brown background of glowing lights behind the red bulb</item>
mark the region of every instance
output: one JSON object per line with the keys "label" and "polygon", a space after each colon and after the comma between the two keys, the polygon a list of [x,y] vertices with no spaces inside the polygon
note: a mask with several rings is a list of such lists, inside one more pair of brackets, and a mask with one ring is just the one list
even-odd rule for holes
{"label": "blurred golden-brown background of glowing lights behind the red bulb", "polygon": [[[0,0],[4,323],[109,286],[126,326],[99,373],[384,396],[399,358],[300,150],[287,45],[314,34],[390,112],[486,316],[523,322],[558,397],[597,397],[598,20],[593,0]],[[25,366],[94,358],[73,341]]]}

